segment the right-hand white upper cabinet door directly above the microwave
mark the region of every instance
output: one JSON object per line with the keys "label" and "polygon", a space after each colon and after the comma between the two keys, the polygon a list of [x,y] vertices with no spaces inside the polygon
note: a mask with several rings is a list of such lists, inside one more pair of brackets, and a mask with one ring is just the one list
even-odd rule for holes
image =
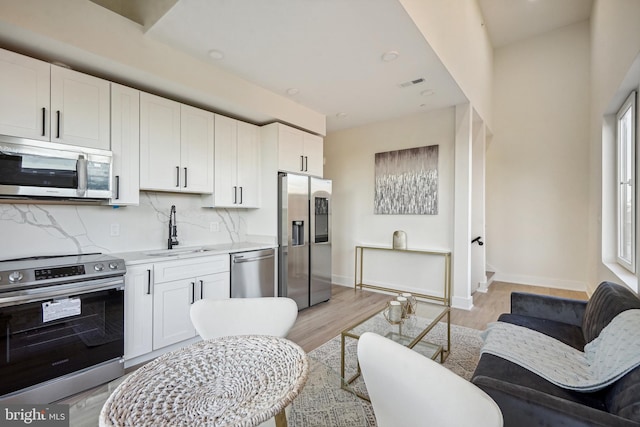
{"label": "right-hand white upper cabinet door directly above the microwave", "polygon": [[50,116],[51,141],[109,150],[108,81],[52,65]]}

